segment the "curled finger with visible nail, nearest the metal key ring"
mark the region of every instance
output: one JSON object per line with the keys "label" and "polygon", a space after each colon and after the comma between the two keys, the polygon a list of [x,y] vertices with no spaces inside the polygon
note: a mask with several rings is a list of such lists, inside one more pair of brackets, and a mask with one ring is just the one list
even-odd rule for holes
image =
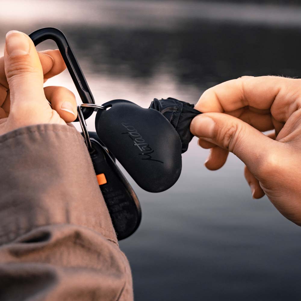
{"label": "curled finger with visible nail, nearest the metal key ring", "polygon": [[64,87],[48,86],[44,88],[47,100],[51,103],[53,110],[56,110],[66,123],[74,121],[77,117],[77,106],[75,95]]}

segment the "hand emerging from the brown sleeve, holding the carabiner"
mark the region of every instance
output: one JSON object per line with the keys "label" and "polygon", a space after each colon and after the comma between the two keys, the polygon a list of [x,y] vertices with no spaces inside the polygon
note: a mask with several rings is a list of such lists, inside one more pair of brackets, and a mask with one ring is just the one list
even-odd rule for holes
{"label": "hand emerging from the brown sleeve, holding the carabiner", "polygon": [[[24,33],[6,35],[0,58],[0,135],[40,123],[66,124],[76,119],[74,94],[43,83],[66,68],[58,50],[37,52]],[[50,107],[48,101],[51,103]]]}

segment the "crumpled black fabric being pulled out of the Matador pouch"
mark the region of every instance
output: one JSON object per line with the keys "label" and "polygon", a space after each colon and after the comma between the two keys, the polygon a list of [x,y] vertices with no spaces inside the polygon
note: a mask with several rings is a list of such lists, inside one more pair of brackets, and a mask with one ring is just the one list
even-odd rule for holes
{"label": "crumpled black fabric being pulled out of the Matador pouch", "polygon": [[193,138],[189,130],[191,120],[201,114],[200,111],[194,109],[193,104],[180,101],[175,98],[157,99],[154,98],[150,109],[155,109],[163,114],[163,116],[172,124],[178,132],[182,142],[182,153],[188,149],[188,144]]}

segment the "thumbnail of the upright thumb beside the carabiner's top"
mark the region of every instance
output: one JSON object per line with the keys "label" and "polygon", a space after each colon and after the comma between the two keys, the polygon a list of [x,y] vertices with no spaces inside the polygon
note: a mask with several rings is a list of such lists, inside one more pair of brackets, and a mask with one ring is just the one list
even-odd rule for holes
{"label": "thumbnail of the upright thumb beside the carabiner's top", "polygon": [[20,31],[11,30],[6,34],[6,51],[9,55],[29,53],[29,40]]}

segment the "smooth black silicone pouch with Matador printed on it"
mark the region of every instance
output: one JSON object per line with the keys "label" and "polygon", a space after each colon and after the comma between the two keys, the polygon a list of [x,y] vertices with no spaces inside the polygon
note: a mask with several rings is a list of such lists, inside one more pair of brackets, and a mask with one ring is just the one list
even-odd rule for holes
{"label": "smooth black silicone pouch with Matador printed on it", "polygon": [[157,110],[117,99],[98,110],[98,137],[144,190],[161,192],[178,180],[182,143],[175,128]]}

